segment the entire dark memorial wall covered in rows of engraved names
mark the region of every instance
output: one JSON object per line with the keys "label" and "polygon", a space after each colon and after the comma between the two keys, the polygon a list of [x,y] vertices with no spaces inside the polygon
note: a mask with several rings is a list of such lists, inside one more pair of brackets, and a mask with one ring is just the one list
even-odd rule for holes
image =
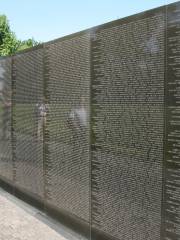
{"label": "entire dark memorial wall covered in rows of engraved names", "polygon": [[180,239],[179,82],[179,2],[0,59],[0,182],[87,239]]}

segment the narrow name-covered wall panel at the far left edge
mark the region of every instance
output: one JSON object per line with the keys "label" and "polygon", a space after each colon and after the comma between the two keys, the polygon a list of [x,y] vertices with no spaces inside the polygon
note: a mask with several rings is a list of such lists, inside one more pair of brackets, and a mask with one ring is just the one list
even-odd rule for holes
{"label": "narrow name-covered wall panel at the far left edge", "polygon": [[0,61],[0,175],[13,180],[11,58]]}

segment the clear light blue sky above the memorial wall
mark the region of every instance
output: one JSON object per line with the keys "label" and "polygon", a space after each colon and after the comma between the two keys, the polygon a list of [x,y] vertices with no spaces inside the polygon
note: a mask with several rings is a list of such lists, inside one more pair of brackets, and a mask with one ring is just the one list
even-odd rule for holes
{"label": "clear light blue sky above the memorial wall", "polygon": [[49,41],[174,0],[0,0],[19,39]]}

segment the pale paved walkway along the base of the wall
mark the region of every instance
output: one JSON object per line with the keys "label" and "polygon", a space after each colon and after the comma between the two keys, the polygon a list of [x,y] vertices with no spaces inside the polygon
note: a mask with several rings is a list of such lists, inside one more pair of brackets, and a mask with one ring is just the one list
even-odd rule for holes
{"label": "pale paved walkway along the base of the wall", "polygon": [[80,239],[84,240],[0,188],[0,240]]}

